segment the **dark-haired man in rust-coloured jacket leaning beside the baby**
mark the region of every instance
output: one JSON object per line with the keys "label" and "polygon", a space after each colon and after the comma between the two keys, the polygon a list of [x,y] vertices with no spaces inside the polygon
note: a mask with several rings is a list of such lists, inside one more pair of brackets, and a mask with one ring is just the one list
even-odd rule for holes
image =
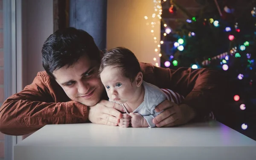
{"label": "dark-haired man in rust-coloured jacket leaning beside the baby", "polygon": [[[93,37],[85,31],[66,28],[49,36],[42,48],[45,71],[3,103],[0,132],[25,135],[46,124],[92,122],[116,126],[124,110],[107,101],[98,76],[102,55]],[[153,120],[157,127],[203,118],[221,100],[216,71],[184,67],[170,70],[146,63],[140,66],[145,81],[186,97],[180,105],[164,101],[156,107],[157,112],[165,109]]]}

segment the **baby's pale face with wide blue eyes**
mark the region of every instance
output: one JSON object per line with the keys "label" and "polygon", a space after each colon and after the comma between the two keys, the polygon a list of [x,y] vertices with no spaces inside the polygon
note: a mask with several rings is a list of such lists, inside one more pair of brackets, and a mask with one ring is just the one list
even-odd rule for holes
{"label": "baby's pale face with wide blue eyes", "polygon": [[123,104],[134,99],[136,81],[131,82],[127,77],[122,76],[118,67],[105,67],[100,73],[100,78],[111,101]]}

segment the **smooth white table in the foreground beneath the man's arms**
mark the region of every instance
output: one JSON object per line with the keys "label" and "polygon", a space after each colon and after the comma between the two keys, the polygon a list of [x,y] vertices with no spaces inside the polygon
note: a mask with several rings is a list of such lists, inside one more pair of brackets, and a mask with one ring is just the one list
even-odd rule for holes
{"label": "smooth white table in the foreground beneath the man's arms", "polygon": [[256,141],[216,121],[175,128],[47,125],[14,147],[14,160],[256,160]]}

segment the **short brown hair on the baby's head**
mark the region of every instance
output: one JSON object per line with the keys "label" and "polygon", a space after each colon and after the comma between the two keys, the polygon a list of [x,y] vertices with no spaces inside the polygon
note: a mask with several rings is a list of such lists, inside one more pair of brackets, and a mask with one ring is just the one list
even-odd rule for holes
{"label": "short brown hair on the baby's head", "polygon": [[99,74],[105,67],[118,67],[121,74],[133,82],[139,72],[141,72],[140,63],[134,53],[127,48],[117,47],[108,50],[101,61]]}

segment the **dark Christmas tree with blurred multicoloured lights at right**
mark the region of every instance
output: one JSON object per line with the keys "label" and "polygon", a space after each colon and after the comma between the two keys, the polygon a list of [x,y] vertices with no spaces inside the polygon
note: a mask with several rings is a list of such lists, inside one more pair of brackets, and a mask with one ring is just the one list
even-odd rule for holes
{"label": "dark Christmas tree with blurred multicoloured lights at right", "polygon": [[[207,67],[224,72],[230,85],[220,121],[256,140],[256,0],[195,0],[191,14],[178,0],[161,1],[164,14],[181,11],[187,20],[170,28],[161,22],[161,67]],[[164,9],[163,9],[164,10]],[[168,47],[163,44],[169,44]]]}

